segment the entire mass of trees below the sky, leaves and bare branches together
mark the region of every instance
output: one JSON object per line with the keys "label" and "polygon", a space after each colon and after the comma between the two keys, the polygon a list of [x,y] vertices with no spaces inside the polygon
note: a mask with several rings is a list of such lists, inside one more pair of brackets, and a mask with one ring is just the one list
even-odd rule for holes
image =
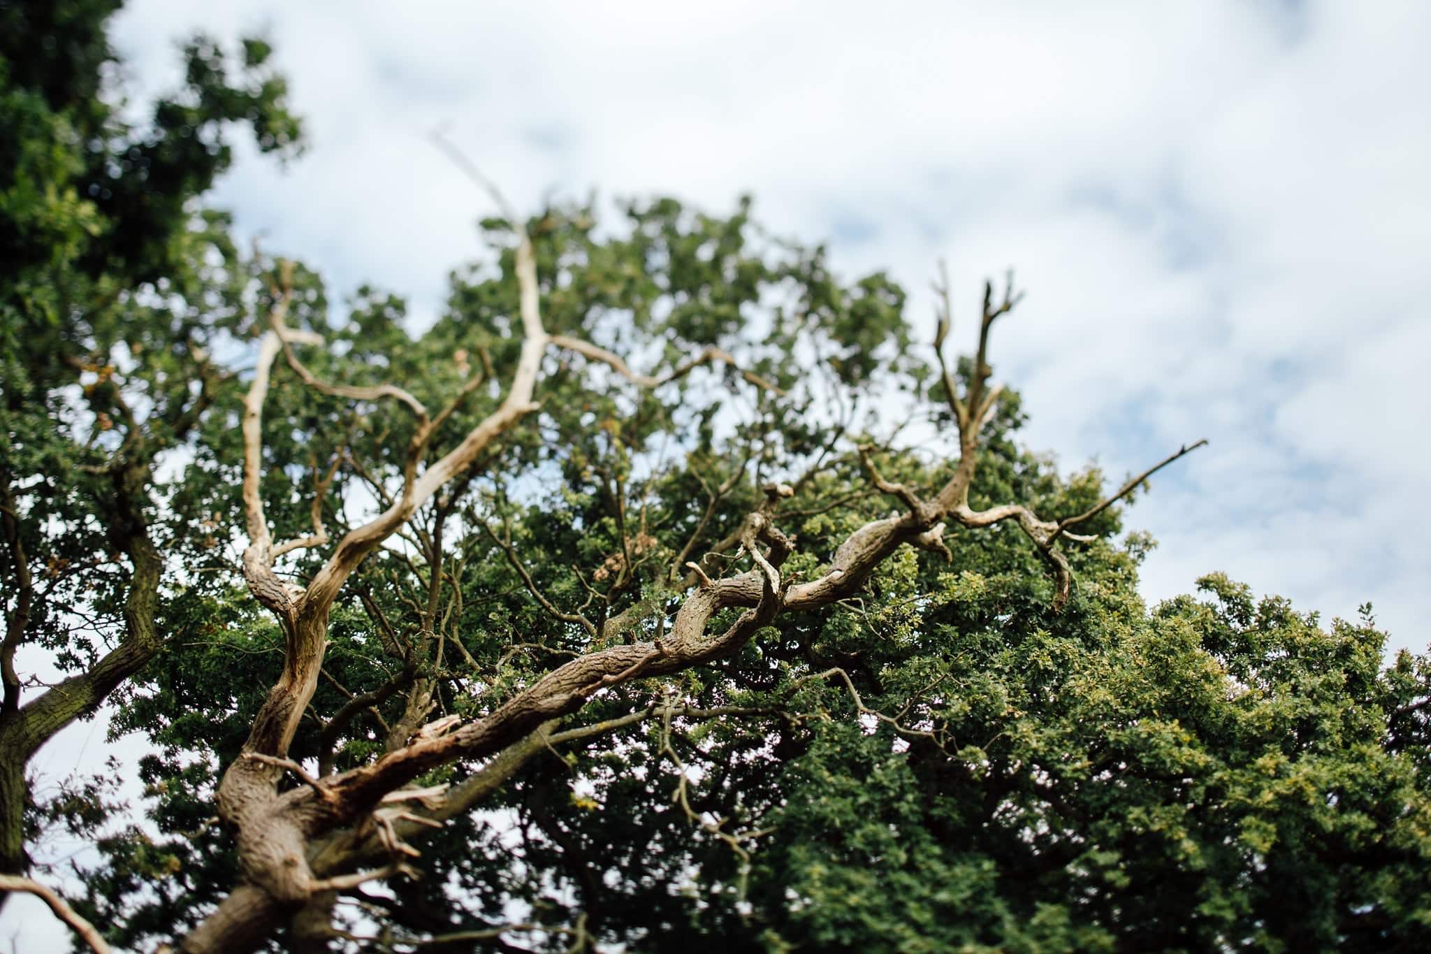
{"label": "entire mass of trees below the sky, leaves and bare branches together", "polygon": [[[301,142],[268,46],[135,124],[114,6],[0,4],[0,890],[63,828],[97,950],[1431,941],[1431,659],[1218,574],[1145,605],[1120,505],[1198,445],[1022,446],[1012,276],[929,342],[748,200],[467,169],[488,253],[414,328],[203,205]],[[100,705],[143,802],[37,795]]]}

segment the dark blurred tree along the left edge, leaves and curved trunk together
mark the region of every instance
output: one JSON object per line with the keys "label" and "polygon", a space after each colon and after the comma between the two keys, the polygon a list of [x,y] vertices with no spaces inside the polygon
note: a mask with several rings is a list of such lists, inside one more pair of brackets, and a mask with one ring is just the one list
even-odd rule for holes
{"label": "dark blurred tree along the left edge, leaves and curved trunk together", "polygon": [[[262,152],[298,147],[283,80],[260,41],[226,51],[195,37],[173,94],[147,116],[130,109],[106,37],[117,7],[0,3],[0,868],[9,872],[29,867],[29,757],[157,649],[155,616],[175,591],[159,599],[150,571],[170,536],[202,521],[182,488],[156,475],[236,385],[219,356],[242,340],[252,280],[229,219],[202,197],[242,130]],[[69,679],[49,692],[26,687],[14,668],[23,646],[46,651]]]}

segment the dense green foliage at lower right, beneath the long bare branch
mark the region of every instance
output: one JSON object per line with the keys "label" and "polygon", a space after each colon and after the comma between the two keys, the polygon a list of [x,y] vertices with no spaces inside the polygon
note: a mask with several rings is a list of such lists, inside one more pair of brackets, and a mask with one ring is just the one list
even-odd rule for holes
{"label": "dense green foliage at lower right, beneath the long bare branch", "polygon": [[[578,908],[635,950],[1425,944],[1425,658],[1384,671],[1369,619],[1321,626],[1216,575],[1211,599],[1148,612],[1135,556],[1106,545],[1052,614],[1007,536],[954,545],[959,572],[894,561],[861,606],[678,689],[778,714],[644,724],[535,765],[456,897],[488,918],[514,894]],[[849,684],[811,679],[834,667]],[[683,775],[700,821],[673,802]]]}

